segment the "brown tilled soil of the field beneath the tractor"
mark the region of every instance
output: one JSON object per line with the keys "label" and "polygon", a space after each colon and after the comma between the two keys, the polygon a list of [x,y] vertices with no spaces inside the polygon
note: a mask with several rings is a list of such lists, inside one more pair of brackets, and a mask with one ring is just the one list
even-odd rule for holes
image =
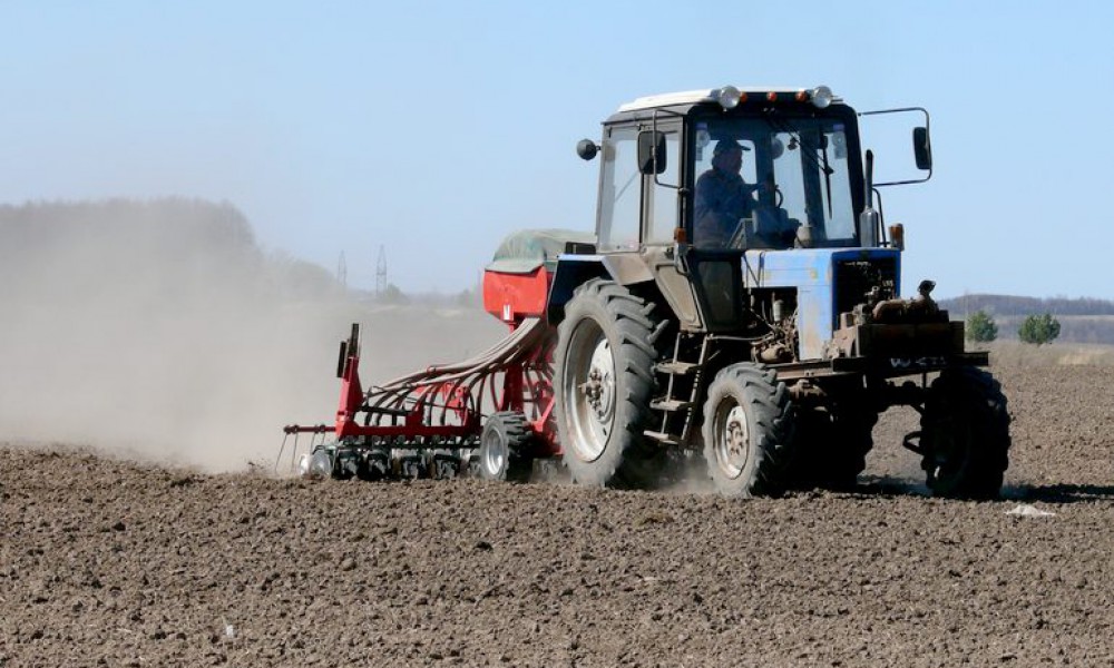
{"label": "brown tilled soil of the field beneath the tractor", "polygon": [[1114,371],[996,373],[987,503],[924,495],[911,412],[858,492],[753,501],[3,448],[0,666],[1114,665]]}

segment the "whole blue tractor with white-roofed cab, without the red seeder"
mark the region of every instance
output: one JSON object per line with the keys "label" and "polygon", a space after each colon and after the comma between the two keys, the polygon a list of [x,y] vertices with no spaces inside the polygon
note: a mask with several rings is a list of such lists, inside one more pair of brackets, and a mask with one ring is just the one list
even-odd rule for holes
{"label": "whole blue tractor with white-roofed cab, without the red seeder", "polygon": [[[931,176],[928,114],[913,157]],[[729,497],[848,488],[878,415],[936,495],[998,494],[1009,416],[985,352],[932,301],[901,298],[901,226],[874,207],[859,114],[827,87],[641,98],[603,124],[595,243],[569,242],[557,327],[563,459],[587,485],[644,487],[703,454]],[[880,207],[879,207],[880,208]]]}

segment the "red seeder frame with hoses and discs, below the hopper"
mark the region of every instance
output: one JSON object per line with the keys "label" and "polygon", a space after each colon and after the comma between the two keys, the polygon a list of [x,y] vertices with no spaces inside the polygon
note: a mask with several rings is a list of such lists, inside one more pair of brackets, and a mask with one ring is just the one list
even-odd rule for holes
{"label": "red seeder frame with hoses and discs, below the hopper", "polygon": [[[367,391],[359,372],[360,325],[353,324],[338,356],[334,424],[283,428],[278,462],[292,440],[291,468],[303,475],[456,478],[477,466],[487,418],[507,412],[520,414],[529,431],[520,445],[528,452],[510,455],[558,454],[550,370],[555,333],[539,317],[508,324],[506,338],[470,360],[429,366]],[[307,450],[299,443],[304,434]]]}

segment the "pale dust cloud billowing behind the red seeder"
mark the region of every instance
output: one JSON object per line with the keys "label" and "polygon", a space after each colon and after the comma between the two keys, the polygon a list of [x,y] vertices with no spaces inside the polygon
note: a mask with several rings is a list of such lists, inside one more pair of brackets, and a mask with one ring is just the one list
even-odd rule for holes
{"label": "pale dust cloud billowing behind the red seeder", "polygon": [[352,322],[365,384],[502,335],[478,305],[353,296],[186,199],[0,206],[0,441],[207,471],[270,466],[284,424],[332,421]]}

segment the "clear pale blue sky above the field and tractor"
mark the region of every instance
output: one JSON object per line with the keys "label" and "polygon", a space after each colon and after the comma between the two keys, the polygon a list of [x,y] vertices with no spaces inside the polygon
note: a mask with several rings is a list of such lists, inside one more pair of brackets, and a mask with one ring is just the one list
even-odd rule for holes
{"label": "clear pale blue sky above the field and tractor", "polygon": [[827,84],[932,114],[932,180],[883,193],[907,289],[1114,298],[1112,8],[0,0],[0,202],[228,200],[350,284],[382,245],[403,291],[450,292],[514,229],[592,228],[574,146],[619,104]]}

